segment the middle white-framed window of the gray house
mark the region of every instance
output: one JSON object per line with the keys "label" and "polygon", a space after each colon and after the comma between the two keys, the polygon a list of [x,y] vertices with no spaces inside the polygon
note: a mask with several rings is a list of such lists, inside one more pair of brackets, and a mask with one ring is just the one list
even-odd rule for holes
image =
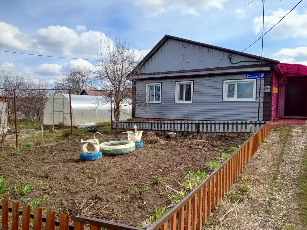
{"label": "middle white-framed window of the gray house", "polygon": [[175,103],[193,102],[193,81],[175,82]]}

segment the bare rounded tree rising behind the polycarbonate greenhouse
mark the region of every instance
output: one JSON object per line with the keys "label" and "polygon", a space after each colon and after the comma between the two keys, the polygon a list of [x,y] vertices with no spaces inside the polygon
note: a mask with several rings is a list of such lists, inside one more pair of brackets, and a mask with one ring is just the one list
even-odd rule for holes
{"label": "bare rounded tree rising behind the polycarbonate greenhouse", "polygon": [[71,94],[80,94],[81,89],[91,89],[93,83],[93,78],[91,72],[83,67],[77,66],[70,69],[69,73],[64,74],[59,79],[53,82],[54,89],[60,89],[58,93],[68,93],[71,89]]}

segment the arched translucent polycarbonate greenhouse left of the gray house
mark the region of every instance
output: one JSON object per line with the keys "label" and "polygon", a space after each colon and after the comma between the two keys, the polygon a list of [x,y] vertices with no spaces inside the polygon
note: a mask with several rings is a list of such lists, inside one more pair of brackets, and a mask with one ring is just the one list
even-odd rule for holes
{"label": "arched translucent polycarbonate greenhouse left of the gray house", "polygon": [[[72,124],[111,121],[110,98],[71,94]],[[114,116],[113,116],[114,118]],[[120,120],[131,118],[131,105],[122,106]],[[70,125],[69,94],[54,94],[46,102],[43,124]]]}

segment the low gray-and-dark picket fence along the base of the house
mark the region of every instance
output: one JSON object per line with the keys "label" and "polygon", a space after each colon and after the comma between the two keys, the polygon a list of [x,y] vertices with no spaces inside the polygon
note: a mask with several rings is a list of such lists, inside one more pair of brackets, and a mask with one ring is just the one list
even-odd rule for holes
{"label": "low gray-and-dark picket fence along the base of the house", "polygon": [[[185,132],[256,132],[266,121],[120,121],[120,129],[185,131]],[[112,128],[116,122],[112,121]]]}

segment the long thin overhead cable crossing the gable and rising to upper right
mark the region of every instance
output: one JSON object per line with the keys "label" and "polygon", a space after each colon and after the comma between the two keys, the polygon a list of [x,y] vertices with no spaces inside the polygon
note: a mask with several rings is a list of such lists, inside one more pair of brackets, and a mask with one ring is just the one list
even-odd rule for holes
{"label": "long thin overhead cable crossing the gable and rising to upper right", "polygon": [[[245,48],[243,51],[235,54],[233,57],[243,53],[245,50],[250,48],[253,44],[255,44],[258,40],[260,40],[264,35],[269,33],[279,22],[281,22],[292,10],[294,10],[303,0],[299,1],[284,17],[282,17],[271,29],[266,31],[262,36],[260,36],[257,40],[255,40],[252,44],[250,44],[247,48]],[[23,55],[31,55],[31,56],[41,56],[41,57],[52,57],[52,58],[63,58],[63,59],[80,59],[80,60],[87,60],[87,61],[99,61],[95,59],[86,59],[86,58],[72,58],[72,57],[61,57],[61,56],[48,56],[48,55],[40,55],[40,54],[31,54],[31,53],[22,53],[22,52],[13,52],[13,51],[6,51],[6,50],[0,50],[0,52],[7,52],[7,53],[16,53],[16,54],[23,54]],[[192,62],[184,62],[184,63],[197,63],[197,62],[208,62],[208,61],[220,61],[220,60],[226,60],[228,58],[223,58],[223,59],[215,59],[215,60],[205,60],[205,61],[192,61]],[[102,60],[102,61],[107,61],[107,60]],[[134,62],[138,63],[138,62]],[[183,62],[153,62],[157,64],[175,64],[175,63],[183,63]]]}

